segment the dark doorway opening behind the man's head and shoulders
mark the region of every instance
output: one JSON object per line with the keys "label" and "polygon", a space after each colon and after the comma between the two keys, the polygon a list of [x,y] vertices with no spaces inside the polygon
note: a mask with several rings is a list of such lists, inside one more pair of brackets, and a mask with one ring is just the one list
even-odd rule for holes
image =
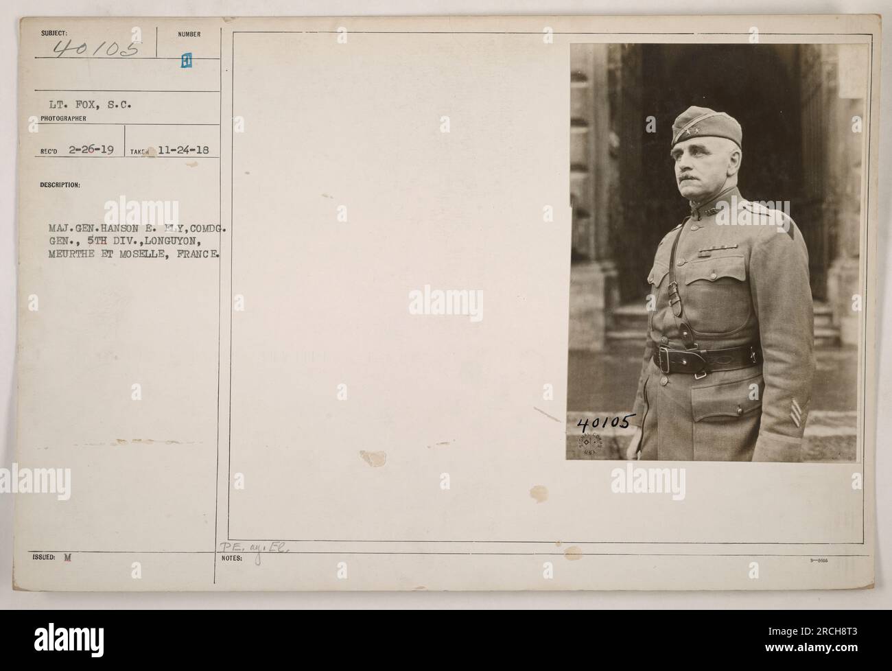
{"label": "dark doorway opening behind the man's head and shoulders", "polygon": [[[808,236],[813,222],[802,176],[802,130],[797,45],[642,45],[641,126],[656,118],[656,133],[643,133],[638,165],[621,162],[624,197],[615,259],[623,300],[641,295],[642,257],[652,256],[665,233],[689,212],[675,186],[669,159],[673,120],[690,105],[728,112],[743,128],[740,191],[751,200],[789,201],[790,214]],[[629,82],[632,84],[632,82]],[[623,120],[620,120],[621,122]],[[643,220],[639,218],[643,217]],[[619,231],[617,231],[619,233]],[[638,236],[638,239],[634,239]],[[628,240],[629,244],[625,244]],[[810,242],[806,237],[806,243]],[[810,251],[811,248],[810,248]],[[647,269],[644,269],[644,275]],[[824,285],[823,278],[813,283]],[[815,286],[813,286],[813,291]],[[819,292],[820,293],[820,292]],[[822,297],[816,295],[815,297]]]}

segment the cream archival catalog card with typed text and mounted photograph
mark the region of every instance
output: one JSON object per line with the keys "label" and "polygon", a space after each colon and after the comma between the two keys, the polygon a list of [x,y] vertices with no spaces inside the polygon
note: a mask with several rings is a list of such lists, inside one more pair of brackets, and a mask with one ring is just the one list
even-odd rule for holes
{"label": "cream archival catalog card with typed text and mounted photograph", "polygon": [[17,589],[872,585],[879,17],[20,38]]}

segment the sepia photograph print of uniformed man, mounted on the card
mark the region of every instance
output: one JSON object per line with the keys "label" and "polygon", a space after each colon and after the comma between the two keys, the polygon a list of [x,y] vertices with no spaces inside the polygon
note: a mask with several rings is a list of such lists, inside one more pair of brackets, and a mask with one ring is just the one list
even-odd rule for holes
{"label": "sepia photograph print of uniformed man, mounted on the card", "polygon": [[570,55],[566,459],[857,461],[866,49]]}

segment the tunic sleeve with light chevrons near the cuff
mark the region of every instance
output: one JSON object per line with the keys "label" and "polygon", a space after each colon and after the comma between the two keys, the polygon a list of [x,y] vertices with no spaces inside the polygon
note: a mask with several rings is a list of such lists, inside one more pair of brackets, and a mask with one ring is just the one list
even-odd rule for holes
{"label": "tunic sleeve with light chevrons near the cuff", "polygon": [[[800,461],[814,380],[814,307],[808,251],[793,220],[766,226],[750,255],[764,392],[754,461]],[[784,228],[787,228],[785,231]]]}

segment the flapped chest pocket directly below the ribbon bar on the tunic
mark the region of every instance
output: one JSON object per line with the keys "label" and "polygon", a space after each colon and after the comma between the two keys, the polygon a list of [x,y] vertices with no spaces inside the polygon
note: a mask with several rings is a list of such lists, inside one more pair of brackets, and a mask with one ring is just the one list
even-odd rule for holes
{"label": "flapped chest pocket directly below the ribbon bar on the tunic", "polygon": [[696,333],[728,335],[746,326],[753,302],[742,254],[696,259],[683,272],[681,300]]}

